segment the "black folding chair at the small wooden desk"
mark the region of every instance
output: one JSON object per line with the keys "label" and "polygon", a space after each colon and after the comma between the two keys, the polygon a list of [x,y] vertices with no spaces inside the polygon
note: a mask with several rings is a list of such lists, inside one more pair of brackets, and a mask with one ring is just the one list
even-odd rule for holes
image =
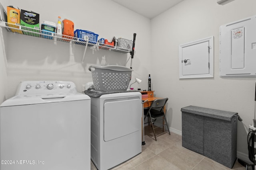
{"label": "black folding chair at the small wooden desk", "polygon": [[[163,120],[165,121],[165,123],[162,125],[162,127],[164,127],[166,125],[169,135],[171,135],[168,123],[166,121],[165,113],[164,113],[164,106],[165,106],[167,100],[168,100],[168,98],[155,99],[148,109],[144,109],[144,115],[145,115],[144,120],[146,119],[146,117],[150,118],[150,122],[151,122],[151,126],[152,126],[152,129],[154,132],[155,139],[156,139],[156,137],[158,137],[164,133],[167,133],[167,132],[163,132],[163,133],[156,135],[155,129],[157,127],[154,127],[154,123],[156,122],[156,119],[158,117],[164,117],[164,119],[160,119],[161,121],[163,121]],[[158,121],[159,121],[159,119],[158,119]],[[144,124],[146,124],[146,123],[144,123]]]}

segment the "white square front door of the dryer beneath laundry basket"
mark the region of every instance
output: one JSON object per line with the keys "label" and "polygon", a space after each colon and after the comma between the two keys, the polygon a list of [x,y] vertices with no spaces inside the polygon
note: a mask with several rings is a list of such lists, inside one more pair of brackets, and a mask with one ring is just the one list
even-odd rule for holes
{"label": "white square front door of the dryer beneath laundry basket", "polygon": [[141,129],[140,99],[111,101],[104,104],[104,141],[110,141]]}

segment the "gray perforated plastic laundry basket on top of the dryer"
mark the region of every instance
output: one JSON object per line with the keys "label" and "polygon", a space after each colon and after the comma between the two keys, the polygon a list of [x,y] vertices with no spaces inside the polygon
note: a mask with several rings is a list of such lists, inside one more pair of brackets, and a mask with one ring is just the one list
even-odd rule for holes
{"label": "gray perforated plastic laundry basket on top of the dryer", "polygon": [[132,69],[124,66],[89,66],[92,72],[94,89],[101,92],[114,92],[127,90]]}

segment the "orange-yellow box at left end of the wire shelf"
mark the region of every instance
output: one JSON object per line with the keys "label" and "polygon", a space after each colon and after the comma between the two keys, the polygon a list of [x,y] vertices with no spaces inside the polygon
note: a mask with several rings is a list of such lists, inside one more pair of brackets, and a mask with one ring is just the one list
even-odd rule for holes
{"label": "orange-yellow box at left end of the wire shelf", "polygon": [[16,9],[13,6],[7,6],[7,22],[9,27],[14,27],[17,29],[11,29],[14,33],[22,34],[20,28],[20,9]]}

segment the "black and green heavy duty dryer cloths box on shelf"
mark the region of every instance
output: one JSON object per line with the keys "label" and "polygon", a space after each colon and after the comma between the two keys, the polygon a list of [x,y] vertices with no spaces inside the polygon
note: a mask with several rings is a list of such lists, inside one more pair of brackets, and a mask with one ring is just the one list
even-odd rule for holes
{"label": "black and green heavy duty dryer cloths box on shelf", "polygon": [[26,30],[26,31],[23,31],[25,35],[40,37],[39,34],[28,32],[28,31],[33,31],[33,32],[39,33],[39,27],[40,27],[39,14],[37,14],[36,12],[20,10],[20,25],[21,25],[21,29]]}

